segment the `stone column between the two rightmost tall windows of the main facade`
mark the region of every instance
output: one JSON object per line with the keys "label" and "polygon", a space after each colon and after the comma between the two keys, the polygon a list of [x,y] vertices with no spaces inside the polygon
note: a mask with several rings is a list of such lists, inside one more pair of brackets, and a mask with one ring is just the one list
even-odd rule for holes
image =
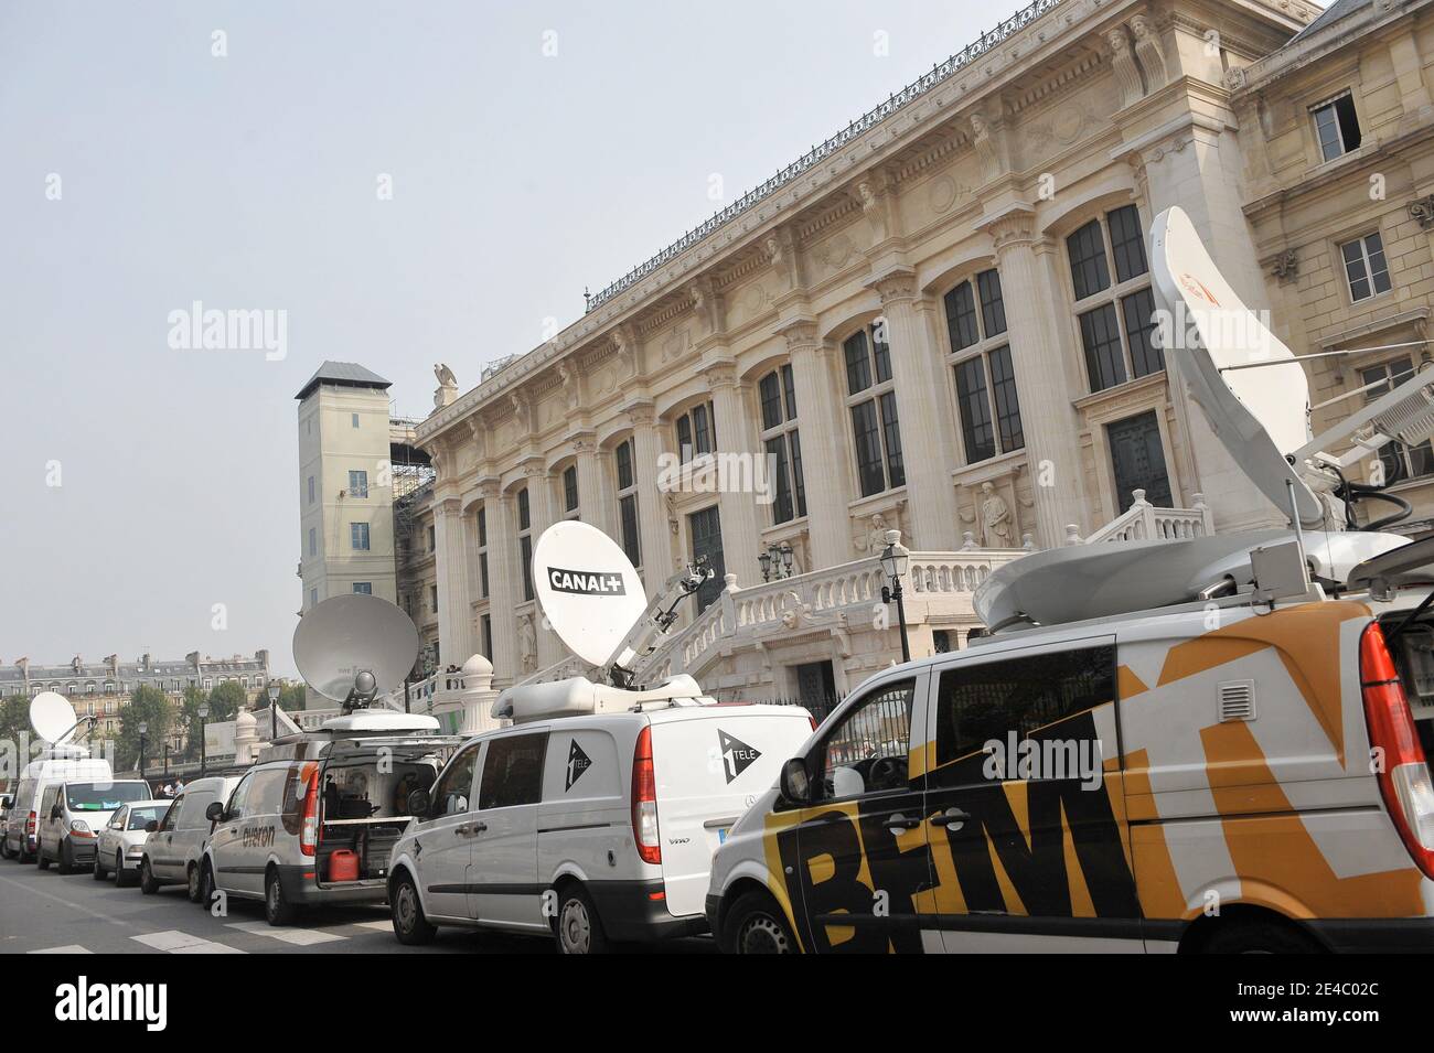
{"label": "stone column between the two rightmost tall windows of the main facade", "polygon": [[[1063,344],[1063,309],[1044,259],[1050,244],[1035,235],[1035,215],[1015,209],[987,225],[995,242],[997,268],[1005,298],[1007,335],[1015,397],[1021,405],[1027,470],[1035,500],[1035,540],[1054,549],[1076,523],[1086,533],[1081,486],[1080,421],[1071,405],[1070,377],[1064,364],[1073,352]],[[1018,539],[1014,539],[1018,543]]]}

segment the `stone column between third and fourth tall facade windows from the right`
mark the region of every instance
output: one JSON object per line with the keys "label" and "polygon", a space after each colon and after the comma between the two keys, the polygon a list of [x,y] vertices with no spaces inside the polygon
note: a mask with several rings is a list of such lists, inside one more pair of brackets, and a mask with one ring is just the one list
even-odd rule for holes
{"label": "stone column between third and fourth tall facade windows from the right", "polygon": [[797,400],[810,569],[830,567],[852,559],[850,473],[846,470],[842,397],[832,381],[835,350],[819,338],[810,321],[789,325],[782,335],[787,341]]}

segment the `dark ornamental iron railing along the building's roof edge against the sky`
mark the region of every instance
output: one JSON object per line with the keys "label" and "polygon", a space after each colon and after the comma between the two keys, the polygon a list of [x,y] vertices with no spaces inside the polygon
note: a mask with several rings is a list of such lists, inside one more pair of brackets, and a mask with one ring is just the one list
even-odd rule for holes
{"label": "dark ornamental iron railing along the building's roof edge against the sky", "polygon": [[939,62],[935,66],[932,66],[929,73],[925,73],[916,80],[911,82],[903,89],[901,89],[889,99],[886,99],[886,102],[872,107],[870,110],[859,116],[856,120],[853,120],[850,125],[843,128],[840,132],[833,135],[826,142],[820,143],[819,146],[813,146],[810,150],[807,150],[800,158],[793,160],[790,165],[783,168],[780,172],[767,179],[764,183],[754,186],[753,189],[747,191],[744,195],[737,198],[737,201],[734,201],[731,205],[727,205],[726,208],[714,212],[706,222],[684,234],[681,238],[674,241],[671,245],[658,252],[655,256],[652,256],[644,264],[638,264],[625,275],[622,275],[615,282],[608,285],[605,289],[599,291],[597,295],[588,297],[588,305],[584,314],[592,311],[597,307],[601,307],[602,304],[612,299],[624,289],[630,288],[635,282],[652,274],[657,268],[663,266],[663,264],[685,252],[688,248],[703,241],[703,238],[710,235],[713,231],[731,222],[757,202],[770,198],[773,193],[776,193],[783,186],[790,183],[793,179],[799,178],[803,172],[809,170],[820,160],[832,156],[839,149],[846,146],[846,143],[852,142],[852,139],[858,138],[859,135],[873,128],[875,125],[879,125],[882,120],[889,117],[892,113],[895,113],[906,103],[919,99],[926,92],[936,87],[936,85],[945,82],[958,70],[965,69],[977,59],[984,56],[987,52],[1004,43],[1015,33],[1020,33],[1022,29],[1030,26],[1032,21],[1040,19],[1047,11],[1054,10],[1061,3],[1064,3],[1064,0],[1035,0],[1032,4],[1030,4],[1028,7],[1022,7],[1020,11],[1012,14],[1010,19],[1002,21],[991,32],[982,33],[978,40],[967,44],[964,49],[961,49],[956,54],[952,54],[945,62]]}

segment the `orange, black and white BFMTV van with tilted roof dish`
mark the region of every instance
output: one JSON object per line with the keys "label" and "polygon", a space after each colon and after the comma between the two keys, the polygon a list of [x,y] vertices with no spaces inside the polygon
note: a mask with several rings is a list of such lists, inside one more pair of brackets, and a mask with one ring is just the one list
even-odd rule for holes
{"label": "orange, black and white BFMTV van with tilted roof dish", "polygon": [[[1243,311],[1182,213],[1152,255],[1163,305]],[[1434,539],[1348,529],[1359,451],[1210,321],[1167,358],[1291,529],[994,573],[989,638],[869,679],[731,828],[723,950],[1434,950]],[[1304,418],[1269,340],[1248,357]],[[1421,441],[1431,397],[1377,400],[1357,444]]]}

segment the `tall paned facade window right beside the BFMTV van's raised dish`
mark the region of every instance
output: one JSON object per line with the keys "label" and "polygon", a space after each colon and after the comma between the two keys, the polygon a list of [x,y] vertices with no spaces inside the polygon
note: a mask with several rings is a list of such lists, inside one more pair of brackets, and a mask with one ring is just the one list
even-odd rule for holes
{"label": "tall paned facade window right beside the BFMTV van's raised dish", "polygon": [[[1164,370],[1154,340],[1154,297],[1140,211],[1124,205],[1091,219],[1065,239],[1086,378],[1091,391]],[[1114,259],[1111,275],[1108,261]],[[1114,278],[1114,281],[1111,281]],[[1088,302],[1096,301],[1096,302]]]}

